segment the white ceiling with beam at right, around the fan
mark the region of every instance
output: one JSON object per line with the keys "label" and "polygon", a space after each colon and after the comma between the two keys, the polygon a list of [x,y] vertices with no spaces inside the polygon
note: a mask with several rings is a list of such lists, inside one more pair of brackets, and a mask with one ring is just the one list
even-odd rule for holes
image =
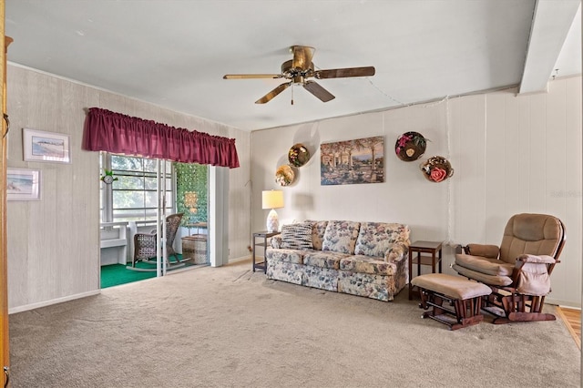
{"label": "white ceiling with beam at right, around the fan", "polygon": [[[6,0],[5,33],[11,64],[243,130],[581,73],[579,0]],[[290,87],[258,105],[284,81],[222,79],[277,74],[292,45],[376,74],[317,80],[327,103]]]}

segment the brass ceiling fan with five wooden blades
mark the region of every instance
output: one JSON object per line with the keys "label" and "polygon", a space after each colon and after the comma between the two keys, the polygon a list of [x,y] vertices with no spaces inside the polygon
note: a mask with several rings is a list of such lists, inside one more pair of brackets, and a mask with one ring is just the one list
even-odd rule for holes
{"label": "brass ceiling fan with five wooden blades", "polygon": [[[246,79],[246,78],[285,78],[289,82],[275,87],[271,92],[261,97],[255,104],[265,104],[273,97],[279,95],[283,90],[293,85],[301,85],[304,89],[318,97],[322,102],[328,102],[335,97],[326,89],[308,78],[344,78],[344,77],[369,77],[374,76],[374,67],[345,67],[328,70],[314,70],[312,56],[315,49],[310,46],[291,46],[290,52],[293,59],[281,64],[281,74],[228,74],[223,79]],[[293,104],[293,99],[292,99]]]}

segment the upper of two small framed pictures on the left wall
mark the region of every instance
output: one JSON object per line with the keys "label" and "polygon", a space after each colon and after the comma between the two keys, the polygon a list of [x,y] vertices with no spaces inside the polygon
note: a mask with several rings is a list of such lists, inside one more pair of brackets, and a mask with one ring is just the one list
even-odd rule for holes
{"label": "upper of two small framed pictures on the left wall", "polygon": [[60,133],[23,128],[25,160],[70,163],[69,137]]}

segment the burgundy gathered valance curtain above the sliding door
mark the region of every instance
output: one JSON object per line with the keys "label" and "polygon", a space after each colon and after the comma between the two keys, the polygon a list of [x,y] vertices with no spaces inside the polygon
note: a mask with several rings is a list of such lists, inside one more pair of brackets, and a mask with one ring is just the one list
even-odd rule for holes
{"label": "burgundy gathered valance curtain above the sliding door", "polygon": [[239,167],[234,138],[169,127],[98,107],[89,108],[84,130],[83,148],[89,151]]}

